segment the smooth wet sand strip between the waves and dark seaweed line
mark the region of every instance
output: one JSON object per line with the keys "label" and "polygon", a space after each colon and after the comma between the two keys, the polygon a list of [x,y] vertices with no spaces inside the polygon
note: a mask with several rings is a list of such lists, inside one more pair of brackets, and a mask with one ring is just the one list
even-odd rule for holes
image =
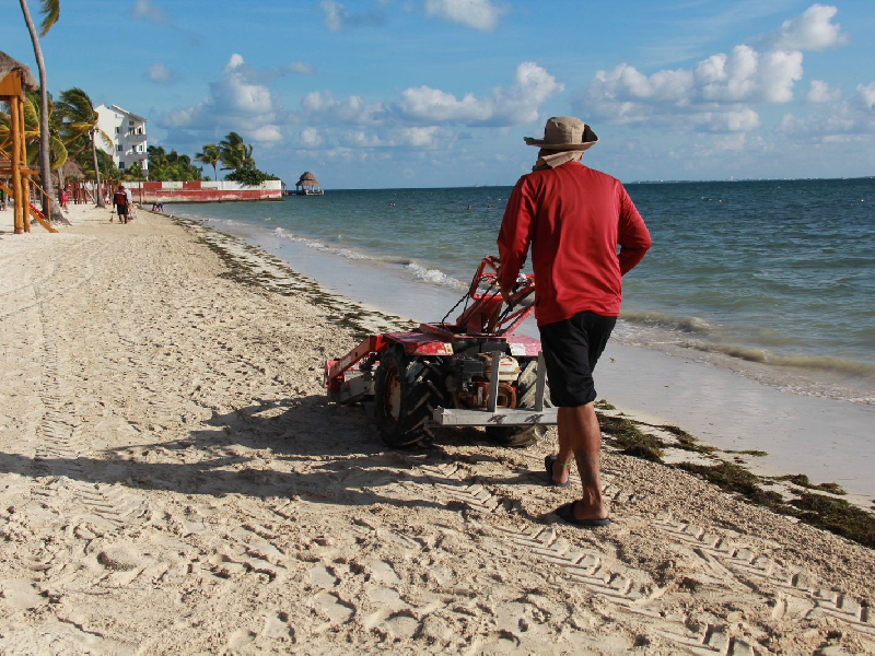
{"label": "smooth wet sand strip between the waves and dark seaweed line", "polygon": [[[315,284],[348,298],[370,298],[365,305],[373,312],[386,313],[374,300],[390,298],[396,313],[386,314],[395,320],[417,325],[418,320],[402,317],[422,313],[423,294],[433,297],[430,308],[439,304],[448,308],[460,293],[375,276],[357,261],[334,258],[278,237],[247,238],[192,219],[178,220],[253,243],[290,269],[289,261],[295,260],[303,266],[304,276],[319,279]],[[420,318],[432,320],[440,316]],[[522,331],[537,337],[534,323],[528,324]],[[875,470],[875,443],[867,440],[868,426],[875,424],[875,406],[798,395],[775,387],[768,372],[761,376],[740,375],[728,368],[725,360],[715,365],[680,349],[669,353],[618,339],[608,343],[596,387],[598,398],[646,422],[681,426],[720,449],[758,452],[756,457],[739,454],[732,458],[757,476],[806,475],[816,484],[837,483],[850,493],[845,500],[866,509],[875,500],[875,480],[870,476]]]}

